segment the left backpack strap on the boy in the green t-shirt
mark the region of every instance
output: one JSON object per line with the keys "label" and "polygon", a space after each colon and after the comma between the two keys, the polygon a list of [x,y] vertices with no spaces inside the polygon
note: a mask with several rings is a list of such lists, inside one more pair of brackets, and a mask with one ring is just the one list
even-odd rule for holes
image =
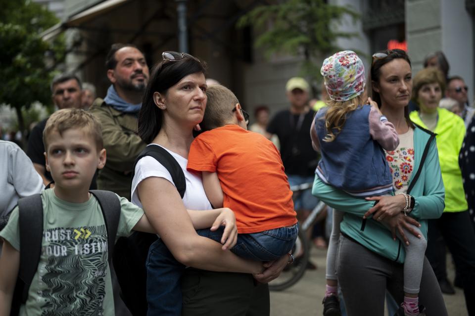
{"label": "left backpack strap on the boy in the green t-shirt", "polygon": [[22,302],[28,298],[31,281],[38,270],[43,240],[43,202],[41,193],[18,200],[20,227],[20,268],[18,277],[25,283]]}

